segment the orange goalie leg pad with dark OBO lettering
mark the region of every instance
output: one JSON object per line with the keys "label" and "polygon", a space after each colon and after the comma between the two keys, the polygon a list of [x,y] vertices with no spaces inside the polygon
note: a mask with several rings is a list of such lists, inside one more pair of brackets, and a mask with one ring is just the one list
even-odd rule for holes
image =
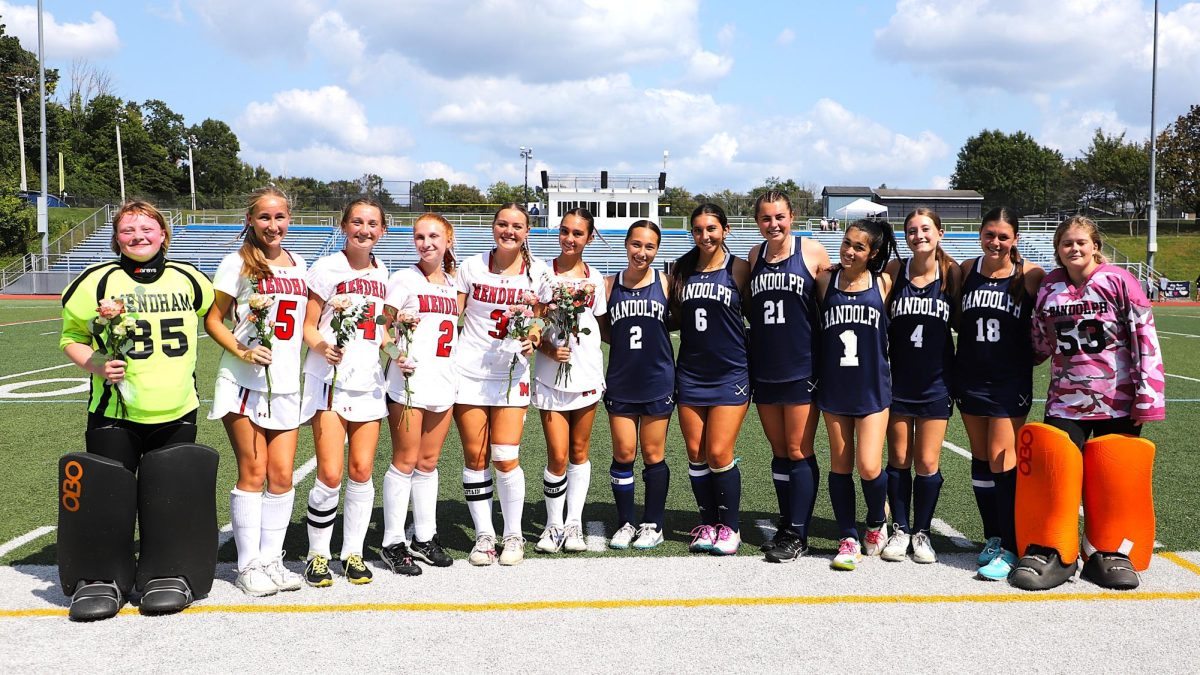
{"label": "orange goalie leg pad with dark OBO lettering", "polygon": [[1063,431],[1037,422],[1016,434],[1016,549],[1058,551],[1063,565],[1079,557],[1079,501],[1084,459]]}

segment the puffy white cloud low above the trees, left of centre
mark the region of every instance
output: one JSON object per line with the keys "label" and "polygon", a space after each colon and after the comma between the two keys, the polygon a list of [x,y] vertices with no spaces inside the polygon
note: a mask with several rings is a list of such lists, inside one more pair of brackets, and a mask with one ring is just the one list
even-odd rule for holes
{"label": "puffy white cloud low above the trees, left of centre", "polygon": [[234,125],[239,138],[268,148],[329,147],[355,154],[388,154],[412,144],[394,126],[371,126],[362,106],[340,86],[290,89],[270,102],[252,102]]}

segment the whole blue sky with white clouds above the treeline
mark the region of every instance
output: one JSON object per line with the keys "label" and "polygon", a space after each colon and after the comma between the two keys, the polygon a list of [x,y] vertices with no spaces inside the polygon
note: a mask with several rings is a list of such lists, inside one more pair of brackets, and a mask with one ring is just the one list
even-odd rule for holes
{"label": "whole blue sky with white clouds above the treeline", "polygon": [[[1078,156],[1150,130],[1142,0],[47,1],[47,62],[229,123],[275,174],[656,173],[941,187],[962,143],[1024,130]],[[1159,130],[1200,104],[1200,2],[1159,4]],[[36,2],[0,0],[36,50]]]}

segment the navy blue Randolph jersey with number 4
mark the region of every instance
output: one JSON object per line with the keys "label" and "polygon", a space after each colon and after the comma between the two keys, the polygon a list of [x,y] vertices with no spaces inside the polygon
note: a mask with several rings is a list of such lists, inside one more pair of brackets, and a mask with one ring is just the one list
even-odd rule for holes
{"label": "navy blue Randolph jersey with number 4", "polygon": [[900,275],[888,307],[888,357],[892,362],[892,398],[924,404],[950,395],[954,340],[950,338],[950,301],[942,291],[941,268],[934,281],[914,286],[908,262],[900,261]]}

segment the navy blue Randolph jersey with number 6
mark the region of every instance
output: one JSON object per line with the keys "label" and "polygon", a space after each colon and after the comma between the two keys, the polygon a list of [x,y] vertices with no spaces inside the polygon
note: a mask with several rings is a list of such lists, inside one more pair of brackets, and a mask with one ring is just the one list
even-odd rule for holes
{"label": "navy blue Randolph jersey with number 6", "polygon": [[683,287],[679,317],[679,388],[749,382],[742,293],[733,281],[733,256],[725,267],[697,271]]}

